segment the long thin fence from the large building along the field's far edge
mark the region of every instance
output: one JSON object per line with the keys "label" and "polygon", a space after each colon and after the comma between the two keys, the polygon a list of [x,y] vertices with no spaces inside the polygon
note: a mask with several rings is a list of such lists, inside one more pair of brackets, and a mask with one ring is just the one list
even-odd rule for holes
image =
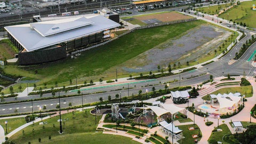
{"label": "long thin fence from the large building along the field's far edge", "polygon": [[[144,28],[151,28],[151,27],[158,27],[158,26],[164,26],[164,25],[170,25],[170,24],[174,24],[174,23],[181,23],[181,22],[188,22],[188,21],[195,21],[196,18],[191,18],[191,19],[185,19],[185,20],[175,20],[175,21],[170,21],[170,22],[158,22],[158,23],[154,23],[154,24],[151,24],[151,25],[146,25],[146,26],[140,26],[140,27],[135,27],[135,28],[132,28],[130,30],[127,30],[125,31],[125,33],[122,33],[120,35],[118,35],[117,37],[114,37],[114,38],[111,38],[109,39],[108,41],[106,42],[103,42],[103,43],[99,43],[97,45],[93,45],[93,46],[90,46],[90,47],[86,47],[84,49],[81,49],[81,50],[77,50],[75,52],[71,52],[71,54],[76,54],[76,53],[79,53],[79,52],[83,52],[83,51],[87,51],[87,50],[90,50],[90,49],[93,49],[94,47],[98,47],[98,46],[101,46],[101,45],[105,45],[113,40],[115,40],[116,38],[119,38],[121,36],[124,36],[126,34],[129,34],[131,33],[133,30],[136,30],[136,29],[144,29]],[[69,54],[67,54],[68,56]]]}

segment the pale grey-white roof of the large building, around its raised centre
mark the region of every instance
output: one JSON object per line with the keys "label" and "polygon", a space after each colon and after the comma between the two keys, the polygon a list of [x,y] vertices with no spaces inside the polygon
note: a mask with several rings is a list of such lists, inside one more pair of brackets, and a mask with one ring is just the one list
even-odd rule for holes
{"label": "pale grey-white roof of the large building, around its raised centre", "polygon": [[[81,17],[80,17],[81,18]],[[68,30],[59,34],[42,36],[36,30],[30,28],[30,24],[17,25],[17,26],[7,26],[5,29],[28,51],[35,51],[42,49],[46,46],[51,46],[54,44],[70,41],[71,39],[80,38],[83,36],[99,33],[103,30],[115,28],[120,26],[119,23],[116,23],[110,19],[107,19],[101,15],[95,15],[93,17],[86,17],[87,22],[93,22],[89,26],[84,26],[77,29]],[[78,19],[78,18],[76,18]],[[81,18],[85,20],[83,17]],[[74,19],[73,19],[74,21]],[[59,22],[68,22],[67,19],[61,19]],[[75,22],[71,22],[75,23]],[[79,23],[79,22],[78,22]],[[86,23],[86,22],[85,22]],[[43,25],[43,24],[42,24]],[[77,24],[82,25],[81,23]],[[50,34],[49,29],[53,25],[45,26],[44,29],[41,29],[42,33]],[[36,26],[37,27],[37,26]],[[67,26],[66,29],[68,29]],[[38,29],[38,28],[37,28]],[[39,30],[39,29],[38,29]]]}

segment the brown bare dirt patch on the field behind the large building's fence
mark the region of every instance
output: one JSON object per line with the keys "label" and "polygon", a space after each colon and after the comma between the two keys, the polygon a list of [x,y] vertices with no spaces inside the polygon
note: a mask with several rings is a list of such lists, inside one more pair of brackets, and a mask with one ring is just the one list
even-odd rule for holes
{"label": "brown bare dirt patch on the field behind the large building's fence", "polygon": [[175,20],[191,19],[191,17],[178,12],[167,12],[167,13],[144,15],[143,17],[135,17],[135,19],[140,21],[157,19],[162,22],[168,22],[168,21],[175,21]]}

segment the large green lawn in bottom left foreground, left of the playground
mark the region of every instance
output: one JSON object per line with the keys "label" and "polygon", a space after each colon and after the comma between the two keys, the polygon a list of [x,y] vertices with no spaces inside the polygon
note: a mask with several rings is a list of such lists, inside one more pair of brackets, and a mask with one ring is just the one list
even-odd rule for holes
{"label": "large green lawn in bottom left foreground, left of the playground", "polygon": [[[131,138],[122,137],[118,135],[102,134],[102,131],[96,132],[95,129],[95,117],[87,112],[75,112],[74,118],[72,113],[63,114],[61,116],[63,134],[59,134],[59,116],[45,119],[47,124],[39,125],[35,123],[25,129],[14,134],[10,140],[15,143],[38,143],[38,139],[41,138],[41,143],[138,143]],[[97,122],[101,116],[97,116]],[[23,132],[24,131],[24,132]],[[49,140],[51,136],[51,140]]]}

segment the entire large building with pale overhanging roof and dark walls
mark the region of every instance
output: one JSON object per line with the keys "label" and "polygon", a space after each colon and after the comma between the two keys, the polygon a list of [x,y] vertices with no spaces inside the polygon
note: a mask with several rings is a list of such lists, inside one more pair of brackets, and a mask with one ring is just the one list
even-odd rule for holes
{"label": "entire large building with pale overhanging roof and dark walls", "polygon": [[4,27],[7,37],[20,51],[20,65],[66,58],[67,53],[109,38],[110,29],[120,26],[102,15],[55,19]]}

